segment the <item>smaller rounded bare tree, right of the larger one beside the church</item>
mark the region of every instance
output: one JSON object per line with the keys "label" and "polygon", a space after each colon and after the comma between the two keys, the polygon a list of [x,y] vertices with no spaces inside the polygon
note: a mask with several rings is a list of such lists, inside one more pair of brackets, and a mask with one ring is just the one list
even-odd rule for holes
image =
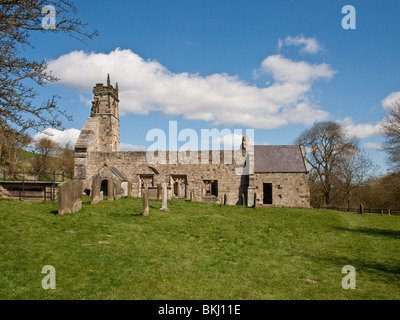
{"label": "smaller rounded bare tree, right of the larger one beside the church", "polygon": [[361,150],[350,150],[340,155],[334,176],[338,187],[346,197],[347,210],[350,210],[353,191],[371,178],[373,168],[372,160]]}

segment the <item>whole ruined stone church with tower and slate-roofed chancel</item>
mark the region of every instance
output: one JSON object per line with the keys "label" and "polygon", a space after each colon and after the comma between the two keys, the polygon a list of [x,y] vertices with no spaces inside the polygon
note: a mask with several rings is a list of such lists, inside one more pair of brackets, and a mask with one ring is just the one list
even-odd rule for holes
{"label": "whole ruined stone church with tower and slate-roofed chancel", "polygon": [[[121,196],[160,199],[166,183],[168,198],[206,201],[228,205],[310,207],[308,166],[300,145],[250,145],[243,137],[239,152],[245,163],[232,160],[225,164],[226,150],[199,151],[197,163],[149,163],[146,151],[120,151],[118,83],[115,88],[96,84],[90,117],[75,145],[75,181],[89,194],[97,181],[96,197]],[[178,151],[165,152],[167,159]],[[220,161],[213,162],[215,152]],[[238,152],[231,150],[229,152]],[[208,164],[200,161],[204,155]],[[234,156],[231,159],[235,159]],[[248,171],[237,174],[247,166]]]}

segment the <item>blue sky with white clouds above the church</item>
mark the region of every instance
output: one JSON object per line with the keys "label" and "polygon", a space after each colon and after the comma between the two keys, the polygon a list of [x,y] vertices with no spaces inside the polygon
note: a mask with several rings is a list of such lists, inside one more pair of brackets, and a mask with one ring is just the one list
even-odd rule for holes
{"label": "blue sky with white clouds above the church", "polygon": [[[342,7],[356,29],[342,28]],[[314,121],[338,121],[386,169],[379,122],[400,98],[400,2],[321,0],[79,1],[79,18],[100,36],[81,43],[34,34],[26,53],[61,79],[40,98],[61,96],[80,130],[92,87],[119,83],[121,143],[146,133],[255,129],[257,144],[293,144]],[[56,8],[57,10],[57,8]],[[74,131],[76,133],[78,131]],[[64,133],[68,137],[72,130]],[[73,135],[73,134],[71,134]]]}

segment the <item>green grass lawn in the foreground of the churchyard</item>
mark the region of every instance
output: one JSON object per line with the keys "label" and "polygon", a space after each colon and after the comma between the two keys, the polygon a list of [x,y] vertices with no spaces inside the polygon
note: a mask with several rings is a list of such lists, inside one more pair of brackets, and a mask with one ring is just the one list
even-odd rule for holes
{"label": "green grass lawn in the foreground of the churchyard", "polygon": [[[166,213],[151,200],[143,217],[141,206],[85,197],[58,216],[57,203],[1,200],[0,299],[400,298],[398,216],[182,200]],[[42,288],[45,265],[56,290]],[[345,265],[355,290],[341,286]]]}

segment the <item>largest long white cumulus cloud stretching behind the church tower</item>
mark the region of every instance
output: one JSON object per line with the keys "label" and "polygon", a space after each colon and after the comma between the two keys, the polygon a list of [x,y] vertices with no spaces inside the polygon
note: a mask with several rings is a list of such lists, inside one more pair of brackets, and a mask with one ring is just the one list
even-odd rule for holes
{"label": "largest long white cumulus cloud stretching behind the church tower", "polygon": [[327,64],[275,55],[260,68],[274,81],[260,88],[225,73],[173,73],[156,60],[119,48],[108,54],[73,51],[50,61],[49,69],[61,79],[59,84],[85,94],[110,73],[112,82],[119,83],[121,115],[161,111],[214,125],[260,129],[326,120],[328,113],[310,102],[312,85],[335,74]]}

